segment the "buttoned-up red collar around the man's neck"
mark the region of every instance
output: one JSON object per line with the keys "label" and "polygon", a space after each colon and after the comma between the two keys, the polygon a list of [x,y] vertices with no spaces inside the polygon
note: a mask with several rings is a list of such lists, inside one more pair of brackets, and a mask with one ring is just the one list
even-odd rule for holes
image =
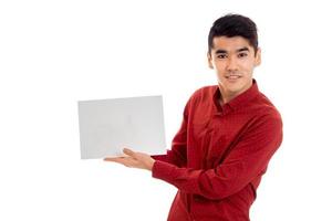
{"label": "buttoned-up red collar around the man's neck", "polygon": [[250,102],[252,98],[255,98],[259,94],[259,88],[257,85],[256,80],[252,80],[252,85],[243,93],[239,94],[235,98],[232,98],[230,102],[226,103],[225,105],[220,106],[219,98],[221,96],[219,87],[216,86],[216,92],[214,94],[214,103],[217,107],[217,110],[220,113],[228,113],[234,109],[237,109],[243,105],[246,105],[248,102]]}

